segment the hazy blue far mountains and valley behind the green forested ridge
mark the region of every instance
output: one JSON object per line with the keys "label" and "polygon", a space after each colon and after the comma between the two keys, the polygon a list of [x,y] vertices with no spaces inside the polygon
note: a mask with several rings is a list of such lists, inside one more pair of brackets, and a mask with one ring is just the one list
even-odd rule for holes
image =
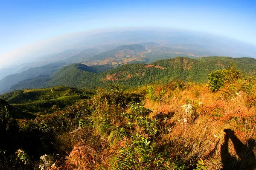
{"label": "hazy blue far mountains and valley behind the green forested ridge", "polygon": [[[123,44],[142,45],[146,51],[132,53],[131,49],[128,49],[129,52],[126,54],[126,50],[121,49],[117,52],[118,48],[123,48]],[[115,50],[117,51],[114,52]],[[131,54],[132,57],[129,57]],[[122,65],[131,62],[154,62],[158,59],[178,56],[256,57],[256,46],[211,34],[160,28],[157,30],[143,28],[130,31],[84,32],[46,40],[18,53],[16,51],[16,53],[5,56],[6,58],[20,58],[20,60],[16,65],[0,69],[0,79],[10,74],[21,73],[29,68],[59,61],[86,65]]]}

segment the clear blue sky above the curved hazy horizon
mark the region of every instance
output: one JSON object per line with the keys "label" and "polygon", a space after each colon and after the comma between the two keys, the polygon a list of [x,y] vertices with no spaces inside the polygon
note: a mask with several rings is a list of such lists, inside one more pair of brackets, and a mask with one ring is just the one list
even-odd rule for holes
{"label": "clear blue sky above the curved hazy horizon", "polygon": [[1,0],[0,54],[93,29],[168,27],[256,45],[256,0]]}

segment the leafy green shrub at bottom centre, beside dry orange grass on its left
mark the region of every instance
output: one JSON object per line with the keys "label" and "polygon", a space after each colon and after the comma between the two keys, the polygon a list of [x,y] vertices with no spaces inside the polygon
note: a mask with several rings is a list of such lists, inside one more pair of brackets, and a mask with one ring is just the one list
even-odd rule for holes
{"label": "leafy green shrub at bottom centre, beside dry orange grass on its left", "polygon": [[159,152],[157,144],[149,138],[136,133],[125,147],[119,148],[119,154],[111,159],[113,170],[185,170],[168,159],[168,152]]}

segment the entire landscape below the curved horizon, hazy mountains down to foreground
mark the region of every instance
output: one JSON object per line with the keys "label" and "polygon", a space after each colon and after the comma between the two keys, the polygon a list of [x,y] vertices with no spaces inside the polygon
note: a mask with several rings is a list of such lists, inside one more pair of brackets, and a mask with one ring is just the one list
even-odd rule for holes
{"label": "entire landscape below the curved horizon, hazy mountains down to foreground", "polygon": [[253,48],[150,34],[89,36],[2,69],[0,169],[253,170]]}

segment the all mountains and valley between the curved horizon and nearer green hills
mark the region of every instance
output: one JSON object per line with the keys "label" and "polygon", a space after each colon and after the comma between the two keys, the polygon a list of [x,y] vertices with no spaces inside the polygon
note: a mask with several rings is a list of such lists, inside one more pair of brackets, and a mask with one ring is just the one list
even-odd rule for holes
{"label": "all mountains and valley between the curved horizon and nearer green hills", "polygon": [[[63,51],[53,52],[52,49],[56,47]],[[14,89],[52,85],[91,88],[104,85],[111,81],[111,77],[113,81],[124,85],[142,85],[153,80],[167,81],[176,78],[205,82],[209,71],[222,68],[233,60],[243,71],[256,70],[253,58],[213,57],[215,60],[212,61],[213,58],[209,57],[256,57],[256,47],[253,45],[209,34],[174,30],[74,34],[65,40],[55,40],[54,44],[47,44],[44,51],[38,50],[38,54],[33,55],[27,53],[26,56],[30,59],[24,57],[26,62],[0,69],[0,94]],[[186,66],[189,67],[188,70],[180,65],[181,62],[174,62],[177,58],[172,58],[175,57],[189,57],[184,62],[191,61],[193,64]],[[159,59],[171,60],[156,62]],[[164,62],[169,65],[164,65]],[[73,63],[78,65],[71,65]],[[140,64],[132,65],[135,63]],[[144,68],[143,64],[154,67]],[[66,67],[67,65],[70,66]],[[185,70],[180,70],[181,68]],[[120,69],[124,69],[121,74]],[[139,74],[143,76],[140,77]],[[120,78],[121,75],[127,78]]]}

